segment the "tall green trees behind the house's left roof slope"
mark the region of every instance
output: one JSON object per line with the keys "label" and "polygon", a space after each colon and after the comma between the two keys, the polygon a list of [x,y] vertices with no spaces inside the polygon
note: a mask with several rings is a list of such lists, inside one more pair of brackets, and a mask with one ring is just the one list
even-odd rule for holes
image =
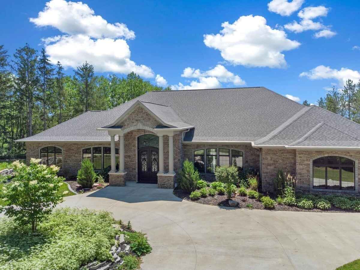
{"label": "tall green trees behind the house's left roof slope", "polygon": [[171,90],[152,85],[131,72],[126,78],[95,76],[85,62],[64,74],[60,62],[28,44],[15,50],[0,45],[0,159],[24,154],[14,140],[35,135],[86,111],[114,108],[149,91]]}

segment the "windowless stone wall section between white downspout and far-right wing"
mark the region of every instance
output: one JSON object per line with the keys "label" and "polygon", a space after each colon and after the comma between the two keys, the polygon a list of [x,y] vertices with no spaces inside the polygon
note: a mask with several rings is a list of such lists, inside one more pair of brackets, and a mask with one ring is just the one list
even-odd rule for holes
{"label": "windowless stone wall section between white downspout and far-right wing", "polygon": [[285,174],[296,174],[296,150],[261,149],[261,184],[263,192],[274,192],[274,178],[281,169]]}

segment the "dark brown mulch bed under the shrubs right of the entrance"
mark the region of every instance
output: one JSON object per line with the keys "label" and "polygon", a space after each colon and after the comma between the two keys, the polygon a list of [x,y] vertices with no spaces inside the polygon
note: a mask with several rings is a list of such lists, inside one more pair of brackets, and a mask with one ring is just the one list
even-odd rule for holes
{"label": "dark brown mulch bed under the shrubs right of the entrance", "polygon": [[[334,206],[332,206],[329,210],[320,210],[317,208],[311,209],[311,210],[306,210],[306,209],[301,209],[295,206],[286,206],[284,204],[275,204],[275,208],[273,209],[267,209],[264,208],[264,206],[262,205],[261,202],[259,202],[257,199],[251,199],[248,198],[246,196],[240,196],[240,195],[235,195],[235,197],[231,198],[231,200],[238,202],[237,206],[230,206],[229,205],[229,200],[226,197],[226,195],[218,195],[216,194],[215,196],[208,196],[205,198],[200,198],[198,200],[193,201],[192,199],[190,199],[189,195],[190,193],[188,192],[184,192],[181,189],[174,189],[174,195],[176,197],[179,197],[181,199],[184,199],[186,201],[191,201],[191,202],[195,202],[195,203],[201,203],[201,204],[208,204],[208,205],[215,205],[215,206],[225,206],[225,207],[232,207],[232,208],[246,208],[249,209],[249,207],[247,207],[248,204],[252,204],[252,209],[266,209],[269,211],[296,211],[296,212],[347,212],[347,213],[359,213],[353,210],[342,210],[340,208],[336,208]],[[272,196],[270,196],[272,197]],[[272,199],[275,199],[274,197],[272,197]]]}

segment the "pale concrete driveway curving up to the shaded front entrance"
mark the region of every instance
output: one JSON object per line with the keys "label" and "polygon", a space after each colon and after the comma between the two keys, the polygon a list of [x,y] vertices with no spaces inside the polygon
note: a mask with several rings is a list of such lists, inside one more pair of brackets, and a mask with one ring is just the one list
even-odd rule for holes
{"label": "pale concrete driveway curving up to the shaded front entrance", "polygon": [[360,258],[360,213],[234,210],[182,201],[169,189],[129,186],[66,197],[61,206],[130,220],[153,247],[144,270],[328,270]]}

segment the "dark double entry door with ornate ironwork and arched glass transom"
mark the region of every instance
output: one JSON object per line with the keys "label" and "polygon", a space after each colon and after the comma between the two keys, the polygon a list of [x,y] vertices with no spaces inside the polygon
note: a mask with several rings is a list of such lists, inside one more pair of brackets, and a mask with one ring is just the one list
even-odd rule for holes
{"label": "dark double entry door with ornate ironwork and arched glass transom", "polygon": [[138,137],[138,182],[157,184],[159,138],[152,134]]}

